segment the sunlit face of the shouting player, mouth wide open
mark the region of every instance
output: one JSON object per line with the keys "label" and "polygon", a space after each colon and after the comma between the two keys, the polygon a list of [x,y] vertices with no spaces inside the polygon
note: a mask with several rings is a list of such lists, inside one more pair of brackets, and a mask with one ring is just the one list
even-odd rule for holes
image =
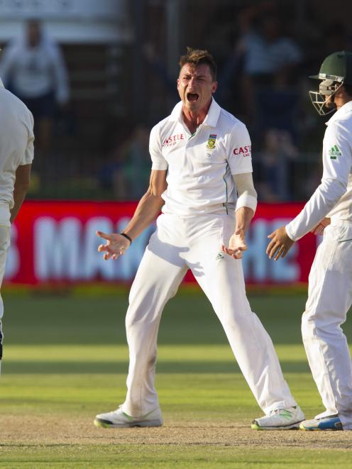
{"label": "sunlit face of the shouting player, mouth wide open", "polygon": [[194,113],[206,109],[211,95],[216,91],[217,82],[213,81],[209,65],[185,64],[177,79],[177,90],[185,108]]}

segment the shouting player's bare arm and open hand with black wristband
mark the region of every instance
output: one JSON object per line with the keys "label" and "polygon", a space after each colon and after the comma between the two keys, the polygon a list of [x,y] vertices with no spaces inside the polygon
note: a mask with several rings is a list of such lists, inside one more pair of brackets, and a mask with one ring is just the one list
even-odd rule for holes
{"label": "shouting player's bare arm and open hand with black wristband", "polygon": [[[123,233],[131,240],[137,238],[160,213],[160,209],[164,205],[161,195],[167,187],[166,173],[166,170],[152,170],[148,190],[138,203],[131,221],[123,230]],[[104,253],[105,260],[117,259],[131,245],[128,238],[119,233],[106,234],[97,231],[97,236],[106,240],[106,244],[101,244],[98,248],[99,253]]]}

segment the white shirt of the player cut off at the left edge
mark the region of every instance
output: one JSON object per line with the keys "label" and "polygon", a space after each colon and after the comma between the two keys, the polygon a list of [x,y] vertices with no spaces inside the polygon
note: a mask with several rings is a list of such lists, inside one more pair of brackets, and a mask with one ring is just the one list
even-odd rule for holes
{"label": "white shirt of the player cut off at the left edge", "polygon": [[33,161],[33,116],[1,80],[0,109],[0,204],[8,204],[11,209],[16,170]]}

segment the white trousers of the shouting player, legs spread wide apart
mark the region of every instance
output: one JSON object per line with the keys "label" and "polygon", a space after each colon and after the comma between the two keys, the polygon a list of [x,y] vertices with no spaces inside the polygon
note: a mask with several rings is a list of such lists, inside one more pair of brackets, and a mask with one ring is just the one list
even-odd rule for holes
{"label": "white trousers of the shouting player, legs spread wide apart", "polygon": [[157,231],[150,238],[129,296],[126,332],[130,364],[122,405],[126,414],[138,417],[159,406],[154,380],[160,316],[188,269],[219,317],[263,412],[296,405],[273,342],[251,311],[241,260],[221,251],[222,243],[228,245],[234,226],[234,216],[226,214],[159,216]]}

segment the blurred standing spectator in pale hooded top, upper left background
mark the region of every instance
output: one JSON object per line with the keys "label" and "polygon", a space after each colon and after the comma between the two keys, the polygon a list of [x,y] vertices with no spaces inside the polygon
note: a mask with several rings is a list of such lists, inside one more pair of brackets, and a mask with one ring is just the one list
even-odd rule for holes
{"label": "blurred standing spectator in pale hooded top, upper left background", "polygon": [[36,150],[40,150],[37,157],[43,171],[57,104],[62,108],[67,106],[69,87],[60,48],[48,37],[39,21],[28,21],[23,35],[5,48],[0,73],[5,86],[32,111]]}

